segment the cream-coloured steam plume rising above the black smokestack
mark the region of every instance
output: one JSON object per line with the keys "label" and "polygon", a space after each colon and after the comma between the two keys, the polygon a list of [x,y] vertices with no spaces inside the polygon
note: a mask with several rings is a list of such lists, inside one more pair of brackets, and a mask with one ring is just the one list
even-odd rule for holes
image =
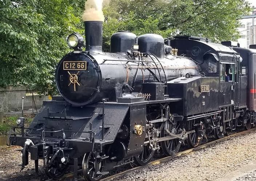
{"label": "cream-coloured steam plume rising above the black smokestack", "polygon": [[[83,21],[104,21],[102,11],[104,0],[87,0],[83,13]],[[105,2],[104,2],[105,3]]]}

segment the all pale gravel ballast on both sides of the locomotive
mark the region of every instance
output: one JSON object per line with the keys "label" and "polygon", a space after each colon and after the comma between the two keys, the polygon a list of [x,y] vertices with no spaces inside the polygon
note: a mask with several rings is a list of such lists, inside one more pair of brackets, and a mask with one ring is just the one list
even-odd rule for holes
{"label": "all pale gravel ballast on both sides of the locomotive", "polygon": [[[225,181],[232,171],[244,165],[256,162],[256,132],[232,137],[207,148],[188,153],[184,156],[150,165],[140,171],[128,173],[114,181]],[[20,147],[0,147],[0,180],[1,181],[30,181],[38,178],[35,174],[33,161],[29,162],[24,171],[15,164],[21,163],[21,153],[15,151]],[[39,163],[40,176],[45,175]],[[256,180],[256,172],[243,176],[240,181],[252,176]],[[244,180],[242,180],[244,179]]]}

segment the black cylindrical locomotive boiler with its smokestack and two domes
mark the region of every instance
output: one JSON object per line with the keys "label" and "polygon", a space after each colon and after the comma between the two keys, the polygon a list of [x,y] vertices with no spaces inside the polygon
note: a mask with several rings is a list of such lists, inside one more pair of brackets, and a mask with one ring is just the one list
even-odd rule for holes
{"label": "black cylindrical locomotive boiler with its smokestack and two domes", "polygon": [[156,34],[137,37],[128,31],[120,31],[111,37],[110,53],[102,52],[102,24],[86,21],[88,51],[83,52],[77,47],[57,66],[57,88],[70,104],[84,106],[103,98],[117,101],[119,97],[139,93],[146,82],[166,84],[187,73],[199,75],[196,63],[185,57],[172,56],[168,52],[170,47]]}

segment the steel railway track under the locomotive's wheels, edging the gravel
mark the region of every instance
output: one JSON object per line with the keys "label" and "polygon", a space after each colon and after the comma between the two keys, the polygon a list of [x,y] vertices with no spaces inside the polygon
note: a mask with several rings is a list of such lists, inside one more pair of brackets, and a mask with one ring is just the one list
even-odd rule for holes
{"label": "steel railway track under the locomotive's wheels, edging the gravel", "polygon": [[[206,148],[206,147],[212,145],[213,143],[221,142],[221,141],[226,140],[226,139],[231,138],[231,137],[235,137],[235,136],[239,136],[239,135],[244,135],[244,134],[247,134],[247,133],[255,131],[255,130],[256,130],[256,128],[253,128],[253,129],[250,129],[250,130],[246,130],[246,131],[238,132],[238,133],[235,133],[235,134],[232,134],[232,135],[229,135],[229,136],[225,136],[225,137],[223,137],[221,139],[213,140],[211,142],[208,142],[208,143],[205,143],[203,145],[200,145],[200,146],[198,146],[196,148],[191,148],[191,149],[188,149],[188,150],[181,151],[181,152],[179,152],[179,153],[177,153],[177,154],[175,154],[173,156],[167,156],[167,157],[164,157],[164,158],[160,158],[160,159],[151,161],[147,165],[131,168],[131,169],[125,170],[123,172],[120,172],[120,173],[117,173],[117,174],[114,174],[114,175],[102,178],[100,181],[108,181],[108,180],[111,180],[113,178],[117,178],[117,177],[123,176],[123,175],[125,175],[127,173],[131,173],[133,171],[137,171],[137,170],[146,168],[148,165],[159,164],[159,163],[161,163],[163,161],[171,160],[172,158],[175,158],[177,156],[181,156],[181,155],[184,155],[186,153],[190,153],[190,152],[195,151],[195,150],[200,150],[202,148]],[[81,170],[79,170],[78,172],[81,172]],[[60,181],[67,180],[68,178],[72,178],[72,177],[73,177],[73,172],[65,174]],[[54,181],[54,180],[53,179],[49,179],[49,180],[46,180],[46,181]]]}

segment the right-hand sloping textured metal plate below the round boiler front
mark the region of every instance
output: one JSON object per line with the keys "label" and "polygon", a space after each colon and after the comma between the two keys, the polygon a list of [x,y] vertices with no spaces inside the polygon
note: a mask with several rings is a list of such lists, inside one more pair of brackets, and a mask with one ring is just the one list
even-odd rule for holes
{"label": "right-hand sloping textured metal plate below the round boiler front", "polygon": [[[92,118],[85,125],[83,131],[89,130],[89,124],[92,123],[92,131],[96,133],[96,139],[101,139],[102,126],[102,103],[99,103],[92,115]],[[125,115],[129,109],[128,105],[105,104],[104,127],[108,128],[104,135],[104,140],[114,140],[116,134],[124,121]],[[88,134],[81,134],[81,138],[87,138]]]}

